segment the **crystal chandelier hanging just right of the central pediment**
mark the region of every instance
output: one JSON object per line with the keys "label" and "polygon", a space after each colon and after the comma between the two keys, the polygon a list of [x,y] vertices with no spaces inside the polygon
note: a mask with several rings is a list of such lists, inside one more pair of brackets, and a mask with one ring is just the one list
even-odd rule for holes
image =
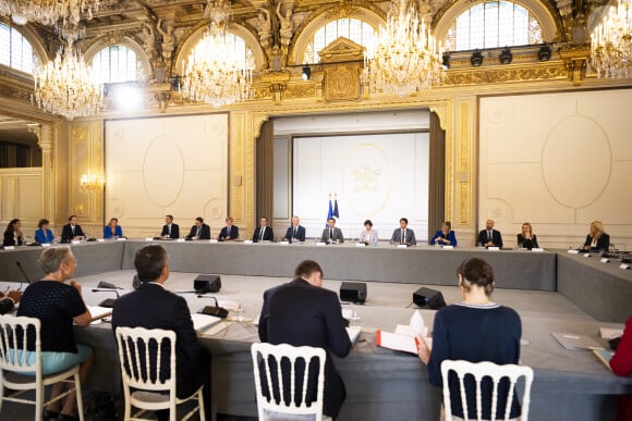
{"label": "crystal chandelier hanging just right of the central pediment", "polygon": [[391,4],[386,26],[367,47],[363,81],[370,92],[400,97],[432,89],[441,83],[441,53],[424,21],[420,21],[414,0]]}

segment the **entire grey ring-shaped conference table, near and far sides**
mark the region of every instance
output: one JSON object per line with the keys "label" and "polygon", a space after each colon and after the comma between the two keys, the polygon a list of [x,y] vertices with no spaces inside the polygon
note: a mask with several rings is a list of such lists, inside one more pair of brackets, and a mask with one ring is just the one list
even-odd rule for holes
{"label": "entire grey ring-shaped conference table, near and far sides", "polygon": [[[490,251],[477,248],[443,250],[434,247],[397,248],[387,245],[357,247],[353,244],[317,246],[160,243],[169,252],[172,272],[190,273],[192,280],[195,273],[289,278],[297,262],[313,259],[323,265],[328,278],[454,285],[454,269],[469,257],[482,257],[491,262],[499,288],[556,290],[560,286],[559,280],[564,278],[563,288],[567,294],[572,294],[573,288],[579,288],[573,284],[576,276],[574,271],[582,273],[591,270],[603,274],[601,286],[610,281],[625,280],[628,275],[623,270],[617,272],[615,265],[599,263],[598,259],[582,260],[562,251]],[[150,242],[72,244],[70,246],[78,261],[75,275],[94,277],[105,272],[125,271],[131,283],[134,253],[147,244]],[[40,252],[41,249],[37,247],[1,251],[0,281],[19,282],[23,278],[16,262],[21,263],[31,280],[40,278],[41,271],[37,267]],[[586,274],[585,278],[587,282],[592,276]],[[630,288],[631,285],[628,283],[622,288]],[[622,308],[630,309],[629,302],[632,301],[628,300]],[[365,306],[362,310],[377,314],[374,320],[379,319],[379,322],[363,326],[361,338],[348,358],[336,358],[335,363],[348,388],[348,397],[339,419],[438,419],[440,389],[429,384],[426,369],[418,358],[375,345],[375,330],[392,330],[397,323],[410,318],[411,309],[404,306]],[[256,314],[257,309],[247,311]],[[432,325],[435,312],[421,311],[426,324]],[[562,414],[563,419],[573,420],[610,419],[616,395],[632,394],[632,379],[612,375],[592,352],[567,350],[550,336],[550,332],[557,331],[586,334],[598,339],[598,329],[609,324],[588,318],[578,321],[568,314],[540,314],[536,311],[522,311],[521,318],[524,339],[521,363],[535,370],[531,418],[558,420]],[[118,354],[109,323],[87,329],[76,327],[75,335],[78,342],[95,349],[96,361],[87,386],[120,392]],[[226,329],[218,333],[202,334],[200,340],[212,355],[214,414],[255,416],[250,346],[258,340],[256,326],[250,322],[233,321],[227,323]]]}

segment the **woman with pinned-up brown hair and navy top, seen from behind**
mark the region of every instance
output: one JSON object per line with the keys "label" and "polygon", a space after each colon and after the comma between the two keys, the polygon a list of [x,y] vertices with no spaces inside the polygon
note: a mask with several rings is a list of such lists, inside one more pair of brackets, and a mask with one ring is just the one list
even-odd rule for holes
{"label": "woman with pinned-up brown hair and navy top, seen from behind", "polygon": [[[518,364],[520,360],[520,317],[513,309],[490,301],[494,271],[489,263],[478,258],[465,260],[457,270],[457,276],[463,300],[437,311],[433,327],[433,349],[428,349],[424,340],[420,340],[418,345],[420,358],[428,366],[428,377],[436,386],[442,385],[441,362],[447,359],[490,361],[496,364]],[[455,373],[450,373],[449,383],[452,416],[464,418]],[[466,384],[465,387],[470,412],[467,418],[476,419],[474,385]],[[499,386],[496,413],[505,413],[508,393],[507,386]],[[482,394],[483,419],[489,420],[490,382],[483,383]],[[510,418],[519,417],[520,412],[520,405],[514,396]]]}

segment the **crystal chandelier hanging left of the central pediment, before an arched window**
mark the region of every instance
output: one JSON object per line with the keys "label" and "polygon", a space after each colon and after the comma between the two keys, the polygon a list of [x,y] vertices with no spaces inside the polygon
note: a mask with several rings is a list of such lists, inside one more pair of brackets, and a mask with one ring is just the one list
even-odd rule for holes
{"label": "crystal chandelier hanging left of the central pediment, before an arched window", "polygon": [[227,38],[226,28],[232,15],[230,2],[208,2],[205,16],[209,30],[189,55],[182,69],[182,95],[214,107],[244,101],[250,97],[253,63],[234,51]]}

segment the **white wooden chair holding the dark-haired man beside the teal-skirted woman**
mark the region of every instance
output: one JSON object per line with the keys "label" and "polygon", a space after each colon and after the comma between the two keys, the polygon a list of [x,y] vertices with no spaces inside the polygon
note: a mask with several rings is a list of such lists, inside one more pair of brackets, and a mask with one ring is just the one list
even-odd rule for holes
{"label": "white wooden chair holding the dark-haired man beside the teal-skirted woman", "polygon": [[[179,399],[175,395],[175,332],[121,326],[117,327],[117,344],[125,397],[125,421],[144,420],[137,417],[145,411],[160,409],[169,409],[171,421],[187,420],[197,411],[199,411],[199,419],[206,420],[203,386],[184,399]],[[160,349],[163,346],[168,346],[171,350],[169,361],[161,360]],[[155,358],[150,358],[150,347],[157,350]],[[155,361],[154,364],[153,361]],[[162,382],[160,368],[167,364],[170,376]],[[132,392],[131,388],[136,391]],[[178,405],[195,399],[197,399],[195,408],[183,418],[177,418]],[[134,416],[132,416],[132,407],[139,409]]]}

